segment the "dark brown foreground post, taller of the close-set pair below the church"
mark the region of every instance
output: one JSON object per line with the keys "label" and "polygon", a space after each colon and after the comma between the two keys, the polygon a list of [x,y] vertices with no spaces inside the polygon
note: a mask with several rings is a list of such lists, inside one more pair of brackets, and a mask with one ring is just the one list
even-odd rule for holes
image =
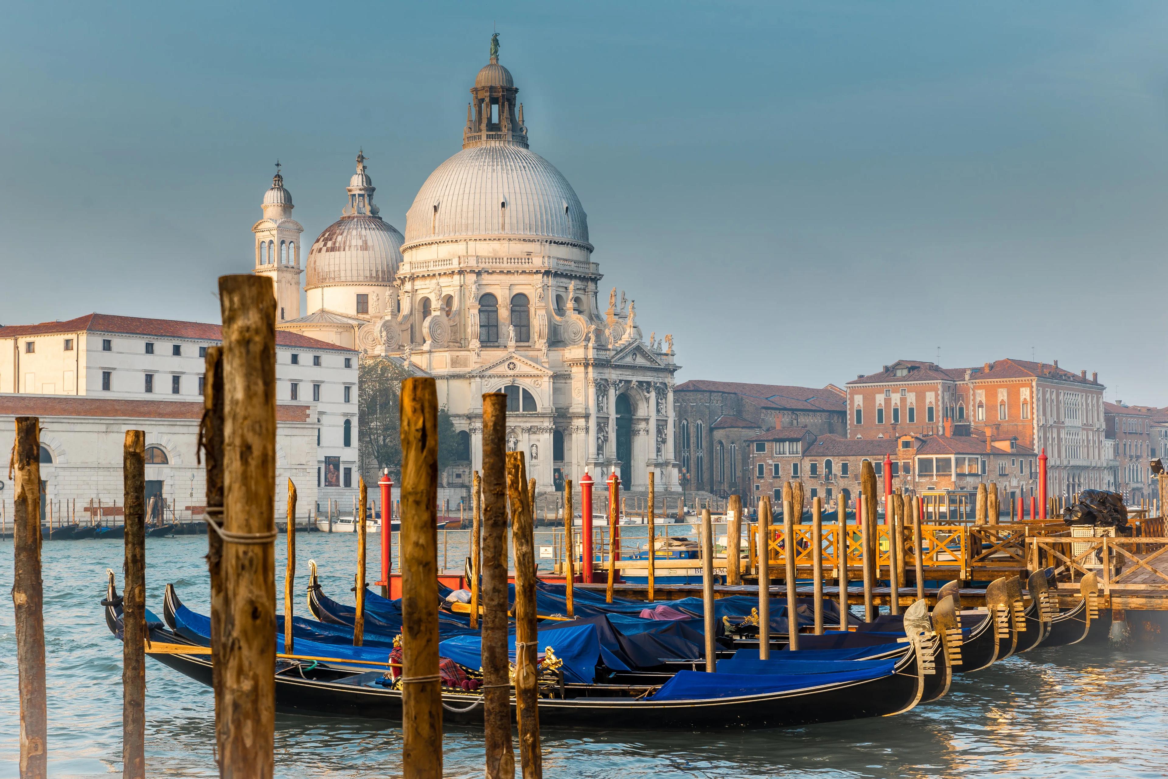
{"label": "dark brown foreground post, taller of the close-set pair below the church", "polygon": [[[507,396],[482,396],[482,716],[487,779],[514,779],[507,640]],[[433,605],[431,604],[431,608]]]}

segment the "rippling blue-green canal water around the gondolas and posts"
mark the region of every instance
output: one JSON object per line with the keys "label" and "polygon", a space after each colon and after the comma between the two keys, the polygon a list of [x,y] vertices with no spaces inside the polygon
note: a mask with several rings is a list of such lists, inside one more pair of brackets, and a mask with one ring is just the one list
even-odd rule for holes
{"label": "rippling blue-green canal water around the gondolas and posts", "polygon": [[[315,559],[325,590],[352,603],[356,538],[303,534],[298,542],[297,590],[303,592],[308,559]],[[283,592],[283,544],[281,535],[278,592]],[[147,541],[152,608],[161,612],[164,585],[174,582],[189,606],[207,611],[206,545],[200,536]],[[107,568],[117,572],[120,590],[121,558],[119,541],[43,547],[54,777],[107,777],[121,771],[121,645],[106,630],[98,604]],[[12,570],[12,542],[0,542],[6,591]],[[303,598],[297,608],[305,608]],[[0,608],[0,778],[18,775],[15,655],[13,612],[5,606]],[[1166,667],[1168,651],[1162,648],[1040,648],[979,674],[958,676],[944,700],[897,717],[753,732],[544,729],[544,775],[1159,778],[1168,773]],[[148,774],[217,775],[210,689],[152,660],[146,680]],[[481,731],[447,726],[444,750],[445,775],[482,775]],[[279,777],[399,775],[401,751],[401,732],[392,723],[277,716]]]}

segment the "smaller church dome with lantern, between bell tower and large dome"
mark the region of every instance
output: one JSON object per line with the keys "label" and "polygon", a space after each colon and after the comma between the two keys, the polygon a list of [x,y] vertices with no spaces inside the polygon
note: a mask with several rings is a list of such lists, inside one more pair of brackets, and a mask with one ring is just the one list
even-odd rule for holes
{"label": "smaller church dome with lantern, between bell tower and large dome", "polygon": [[392,284],[402,263],[402,234],[378,216],[374,186],[366,173],[364,154],[347,187],[349,202],[342,216],[312,244],[305,269],[305,288],[342,284]]}

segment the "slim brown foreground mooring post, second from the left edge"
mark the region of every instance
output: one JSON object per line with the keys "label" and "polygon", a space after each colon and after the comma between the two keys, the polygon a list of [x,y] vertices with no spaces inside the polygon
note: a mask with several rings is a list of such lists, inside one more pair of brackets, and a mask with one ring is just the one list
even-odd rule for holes
{"label": "slim brown foreground mooring post, second from the left edge", "polygon": [[125,586],[121,594],[121,775],[146,777],[146,433],[127,430],[121,451]]}

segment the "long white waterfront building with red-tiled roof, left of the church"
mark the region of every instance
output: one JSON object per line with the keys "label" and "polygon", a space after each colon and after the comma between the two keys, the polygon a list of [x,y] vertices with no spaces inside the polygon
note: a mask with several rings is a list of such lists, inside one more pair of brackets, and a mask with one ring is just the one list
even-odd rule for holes
{"label": "long white waterfront building with red-tiled roof, left of the church", "polygon": [[[218,325],[110,314],[0,327],[0,417],[42,417],[50,498],[120,505],[123,433],[140,429],[153,458],[147,494],[168,505],[174,499],[180,510],[202,506],[195,440],[206,349],[221,341]],[[333,343],[277,333],[277,506],[286,500],[288,478],[305,512],[317,501],[350,503],[356,357]],[[0,427],[11,448],[11,419]]]}

